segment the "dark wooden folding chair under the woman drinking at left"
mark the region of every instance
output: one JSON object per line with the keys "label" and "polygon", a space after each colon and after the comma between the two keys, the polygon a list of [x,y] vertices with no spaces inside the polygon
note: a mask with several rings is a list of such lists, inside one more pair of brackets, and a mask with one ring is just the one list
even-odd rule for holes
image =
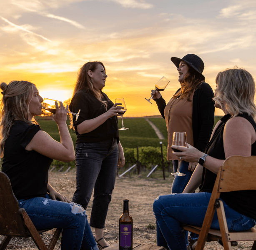
{"label": "dark wooden folding chair under the woman drinking at left", "polygon": [[0,235],[5,235],[0,250],[7,247],[12,237],[31,237],[39,250],[53,250],[62,229],[55,230],[47,248],[40,234],[48,230],[51,228],[41,231],[35,229],[25,209],[20,208],[8,176],[0,172]]}

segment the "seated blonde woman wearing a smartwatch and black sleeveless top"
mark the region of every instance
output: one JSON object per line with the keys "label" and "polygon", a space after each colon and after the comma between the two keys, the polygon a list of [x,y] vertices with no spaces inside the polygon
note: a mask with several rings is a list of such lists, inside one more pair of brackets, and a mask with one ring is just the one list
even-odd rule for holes
{"label": "seated blonde woman wearing a smartwatch and black sleeveless top", "polygon": [[[225,115],[216,124],[205,153],[187,144],[173,146],[173,153],[188,162],[198,162],[182,194],[159,196],[153,209],[171,250],[186,250],[181,223],[202,226],[218,170],[232,155],[256,155],[255,83],[244,69],[228,69],[216,77],[215,107]],[[201,165],[200,165],[200,164]],[[201,185],[199,193],[193,193]],[[221,193],[228,230],[243,231],[256,224],[256,190]],[[216,214],[211,228],[219,229]]]}

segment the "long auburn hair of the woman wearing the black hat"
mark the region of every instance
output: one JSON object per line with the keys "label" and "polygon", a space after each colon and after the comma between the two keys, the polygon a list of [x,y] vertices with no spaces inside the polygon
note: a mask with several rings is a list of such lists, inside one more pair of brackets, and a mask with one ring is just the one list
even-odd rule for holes
{"label": "long auburn hair of the woman wearing the black hat", "polygon": [[176,99],[180,96],[181,99],[184,99],[187,97],[188,102],[191,102],[192,100],[190,100],[189,97],[196,87],[204,81],[204,76],[190,67],[186,62],[184,63],[188,66],[188,72],[185,75],[184,82],[181,82],[181,89],[173,95],[173,98]]}

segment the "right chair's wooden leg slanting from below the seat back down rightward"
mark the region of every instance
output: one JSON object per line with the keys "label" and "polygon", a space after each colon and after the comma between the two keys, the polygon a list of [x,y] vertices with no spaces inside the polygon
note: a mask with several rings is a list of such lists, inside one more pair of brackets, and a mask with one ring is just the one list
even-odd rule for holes
{"label": "right chair's wooden leg slanting from below the seat back down rightward", "polygon": [[217,208],[217,214],[218,214],[218,223],[220,225],[221,230],[221,238],[223,243],[224,250],[231,250],[231,242],[227,241],[226,235],[228,235],[228,225],[226,221],[226,215],[223,207],[223,203],[221,200],[218,200],[219,207]]}

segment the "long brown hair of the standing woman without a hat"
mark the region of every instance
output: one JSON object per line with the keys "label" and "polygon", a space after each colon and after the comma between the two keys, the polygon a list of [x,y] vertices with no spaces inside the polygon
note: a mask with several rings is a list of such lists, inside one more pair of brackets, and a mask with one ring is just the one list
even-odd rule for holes
{"label": "long brown hair of the standing woman without a hat", "polygon": [[[106,72],[106,69],[105,69],[105,66],[103,65],[103,63],[98,62],[98,61],[86,62],[83,65],[83,67],[80,68],[80,70],[78,71],[78,78],[75,83],[73,96],[75,95],[76,92],[86,89],[91,95],[96,97],[97,100],[102,102],[102,104],[107,109],[108,103],[106,101],[103,101],[102,93],[100,92],[100,90],[98,90],[94,87],[93,82],[92,82],[90,76],[88,75],[89,70],[91,70],[92,72],[95,72],[98,64],[102,65]],[[73,96],[72,96],[72,98],[73,98]]]}

